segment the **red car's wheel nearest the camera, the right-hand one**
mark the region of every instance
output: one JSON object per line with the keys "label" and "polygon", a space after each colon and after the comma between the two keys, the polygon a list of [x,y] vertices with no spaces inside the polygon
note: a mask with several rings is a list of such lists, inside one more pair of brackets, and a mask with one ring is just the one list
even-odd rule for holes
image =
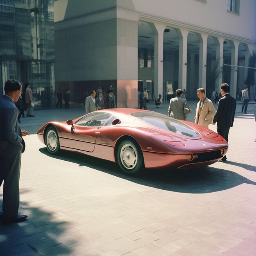
{"label": "red car's wheel nearest the camera, the right-hand one", "polygon": [[138,174],[144,168],[144,159],[141,148],[136,141],[126,139],[122,141],[117,150],[117,164],[128,174]]}

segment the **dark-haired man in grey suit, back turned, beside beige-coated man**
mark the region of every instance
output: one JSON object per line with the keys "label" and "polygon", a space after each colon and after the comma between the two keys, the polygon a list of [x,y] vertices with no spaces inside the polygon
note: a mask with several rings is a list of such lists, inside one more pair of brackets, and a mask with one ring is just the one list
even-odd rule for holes
{"label": "dark-haired man in grey suit, back turned, beside beige-coated man", "polygon": [[186,120],[186,115],[191,113],[192,110],[189,108],[187,101],[182,98],[183,91],[181,89],[176,90],[176,95],[176,98],[170,100],[168,117]]}

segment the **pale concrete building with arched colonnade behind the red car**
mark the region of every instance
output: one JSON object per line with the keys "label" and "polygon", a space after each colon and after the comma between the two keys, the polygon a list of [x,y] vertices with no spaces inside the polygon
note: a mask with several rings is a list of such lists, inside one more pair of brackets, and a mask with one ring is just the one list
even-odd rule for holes
{"label": "pale concrete building with arched colonnade behind the red car", "polygon": [[119,108],[137,107],[142,88],[152,100],[177,88],[195,99],[226,82],[236,97],[255,25],[255,0],[55,0],[56,89],[83,103],[91,89],[112,88]]}

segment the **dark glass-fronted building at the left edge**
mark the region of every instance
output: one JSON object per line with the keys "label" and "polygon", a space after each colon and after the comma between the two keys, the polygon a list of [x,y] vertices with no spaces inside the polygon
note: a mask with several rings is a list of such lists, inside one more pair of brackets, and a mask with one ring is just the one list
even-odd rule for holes
{"label": "dark glass-fronted building at the left edge", "polygon": [[36,109],[55,106],[54,0],[0,0],[0,96],[29,83]]}

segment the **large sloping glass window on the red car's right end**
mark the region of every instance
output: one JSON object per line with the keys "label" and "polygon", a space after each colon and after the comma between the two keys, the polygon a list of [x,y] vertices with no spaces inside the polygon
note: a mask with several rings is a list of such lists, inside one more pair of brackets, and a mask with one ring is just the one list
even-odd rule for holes
{"label": "large sloping glass window on the red car's right end", "polygon": [[200,136],[198,132],[196,132],[190,126],[163,114],[159,114],[156,112],[137,112],[132,113],[131,116],[137,117],[139,120],[156,126],[160,129],[175,132],[176,134],[193,138]]}

